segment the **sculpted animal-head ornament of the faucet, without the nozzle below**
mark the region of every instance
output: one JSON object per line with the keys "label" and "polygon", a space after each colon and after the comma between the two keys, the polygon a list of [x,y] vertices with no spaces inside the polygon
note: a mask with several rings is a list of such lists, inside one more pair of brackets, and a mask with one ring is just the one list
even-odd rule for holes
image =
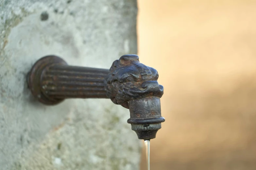
{"label": "sculpted animal-head ornament of the faucet, without the nozzle below", "polygon": [[113,62],[106,80],[107,96],[113,103],[129,108],[128,101],[150,96],[162,97],[158,72],[139,62],[137,55],[123,55]]}

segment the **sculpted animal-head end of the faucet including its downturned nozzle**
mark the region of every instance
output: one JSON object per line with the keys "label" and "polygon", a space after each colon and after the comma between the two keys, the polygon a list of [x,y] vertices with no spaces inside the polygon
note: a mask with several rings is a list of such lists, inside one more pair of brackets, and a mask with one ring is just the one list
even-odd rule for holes
{"label": "sculpted animal-head end of the faucet including its downturned nozzle", "polygon": [[113,62],[106,78],[107,96],[130,110],[128,123],[139,139],[153,139],[165,119],[161,116],[163,86],[158,72],[139,62],[137,55],[124,55]]}

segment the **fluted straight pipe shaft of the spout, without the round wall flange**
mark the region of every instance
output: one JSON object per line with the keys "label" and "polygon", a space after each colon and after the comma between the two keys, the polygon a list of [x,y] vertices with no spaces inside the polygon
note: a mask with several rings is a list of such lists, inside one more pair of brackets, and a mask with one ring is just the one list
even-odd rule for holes
{"label": "fluted straight pipe shaft of the spout, without the round wall flange", "polygon": [[55,98],[108,98],[104,79],[108,69],[55,65],[42,75],[42,92]]}

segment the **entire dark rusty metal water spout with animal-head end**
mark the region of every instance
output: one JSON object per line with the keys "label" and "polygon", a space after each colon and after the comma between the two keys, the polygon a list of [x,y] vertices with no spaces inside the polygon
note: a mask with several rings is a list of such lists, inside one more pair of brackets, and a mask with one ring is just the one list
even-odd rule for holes
{"label": "entire dark rusty metal water spout with animal-head end", "polygon": [[156,69],[123,55],[110,69],[70,66],[54,55],[39,59],[27,75],[32,95],[41,103],[56,105],[66,98],[110,98],[128,108],[131,129],[139,139],[156,137],[165,119],[161,116],[163,86]]}

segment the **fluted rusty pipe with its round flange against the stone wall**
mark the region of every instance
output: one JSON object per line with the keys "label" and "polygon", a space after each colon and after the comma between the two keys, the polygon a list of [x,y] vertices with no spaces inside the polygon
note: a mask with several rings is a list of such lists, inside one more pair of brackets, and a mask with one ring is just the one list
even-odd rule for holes
{"label": "fluted rusty pipe with its round flange against the stone wall", "polygon": [[38,60],[28,74],[28,86],[40,102],[55,105],[65,98],[108,98],[108,69],[69,66],[57,56]]}

